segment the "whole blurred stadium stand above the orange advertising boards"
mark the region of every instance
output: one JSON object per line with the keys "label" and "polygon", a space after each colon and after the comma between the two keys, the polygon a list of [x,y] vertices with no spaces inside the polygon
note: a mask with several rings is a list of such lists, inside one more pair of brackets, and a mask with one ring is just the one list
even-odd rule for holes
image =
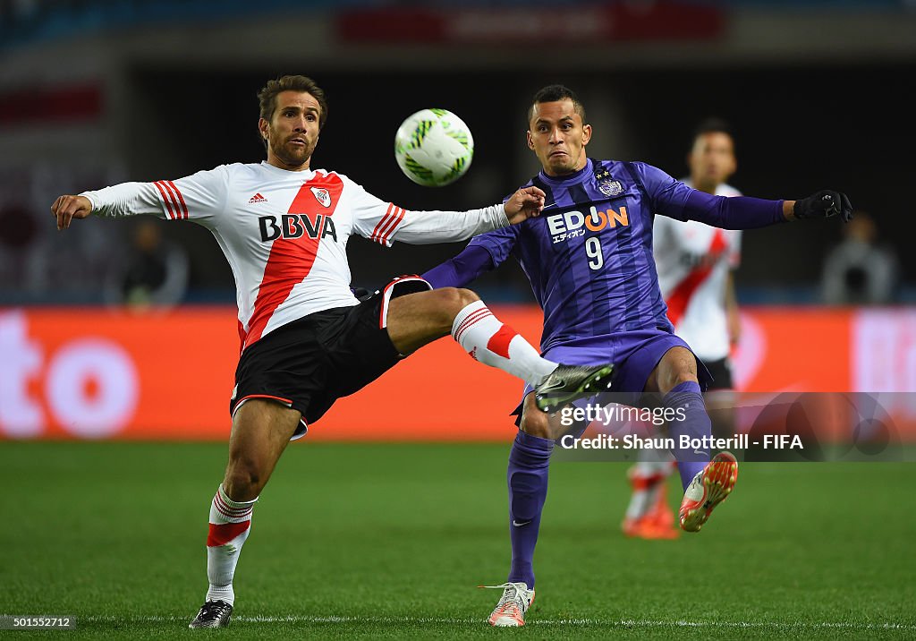
{"label": "whole blurred stadium stand above the orange advertising boards", "polygon": [[[916,301],[908,148],[916,140],[916,3],[291,2],[0,0],[0,305],[102,303],[104,275],[131,221],[56,235],[59,193],[258,161],[256,91],[282,73],[313,76],[331,110],[313,166],[343,171],[412,208],[495,202],[536,171],[524,145],[541,85],[582,94],[594,157],[646,160],[675,176],[693,124],[736,127],[749,195],[832,187],[879,222],[900,253],[899,303]],[[425,106],[474,130],[468,175],[440,190],[403,178],[391,141]],[[213,238],[162,223],[191,259],[188,302],[231,302]],[[807,224],[745,235],[746,304],[817,303],[839,228]],[[354,282],[428,269],[461,245],[384,250],[355,238]],[[379,269],[379,265],[383,267]],[[517,267],[485,277],[497,301],[531,300]]]}

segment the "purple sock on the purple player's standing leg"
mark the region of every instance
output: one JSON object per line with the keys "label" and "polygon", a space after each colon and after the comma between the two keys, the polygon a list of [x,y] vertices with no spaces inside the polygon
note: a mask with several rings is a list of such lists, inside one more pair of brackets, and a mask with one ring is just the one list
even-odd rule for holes
{"label": "purple sock on the purple player's standing leg", "polygon": [[509,452],[509,539],[512,541],[510,582],[534,587],[534,546],[538,542],[540,513],[547,499],[547,472],[553,441],[518,430]]}

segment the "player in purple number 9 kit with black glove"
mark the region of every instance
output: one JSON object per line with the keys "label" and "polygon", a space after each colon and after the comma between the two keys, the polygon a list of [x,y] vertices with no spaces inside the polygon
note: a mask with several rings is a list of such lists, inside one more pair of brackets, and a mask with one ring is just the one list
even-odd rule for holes
{"label": "player in purple number 9 kit with black glove", "polygon": [[[540,218],[474,238],[423,277],[435,287],[460,287],[514,256],[544,312],[545,358],[614,362],[616,391],[657,393],[666,408],[684,416],[671,422],[672,437],[709,437],[701,387],[707,374],[666,316],[652,257],[654,216],[750,229],[837,214],[847,220],[849,200],[834,191],[798,201],[726,198],[694,190],[643,162],[591,160],[585,147],[592,127],[582,102],[562,85],[535,94],[528,124],[528,146],[542,166],[528,184],[547,194]],[[512,563],[507,582],[496,586],[504,589],[489,618],[496,626],[523,625],[534,600],[534,547],[560,436],[556,422],[539,409],[540,393],[531,392],[525,388],[517,408],[520,429],[509,453]],[[736,459],[723,452],[710,460],[702,448],[673,454],[685,490],[681,526],[695,532],[734,487]]]}

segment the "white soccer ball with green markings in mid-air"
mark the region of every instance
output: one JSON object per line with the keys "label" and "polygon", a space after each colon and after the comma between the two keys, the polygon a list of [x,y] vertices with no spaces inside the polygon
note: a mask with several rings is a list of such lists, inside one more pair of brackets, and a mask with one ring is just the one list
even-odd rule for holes
{"label": "white soccer ball with green markings in mid-air", "polygon": [[464,175],[474,158],[474,137],[463,120],[445,109],[409,116],[395,134],[395,159],[413,182],[442,187]]}

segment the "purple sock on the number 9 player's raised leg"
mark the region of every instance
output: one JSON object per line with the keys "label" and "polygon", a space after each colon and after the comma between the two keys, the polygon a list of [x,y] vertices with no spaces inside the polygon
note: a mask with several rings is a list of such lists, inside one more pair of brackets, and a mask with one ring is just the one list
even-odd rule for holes
{"label": "purple sock on the number 9 player's raised leg", "polygon": [[[671,453],[678,460],[678,471],[681,472],[681,483],[684,490],[696,473],[706,467],[710,459],[709,440],[713,436],[713,423],[706,413],[703,393],[698,383],[687,381],[676,385],[665,394],[665,407],[671,407],[676,413],[674,420],[669,421],[668,428],[674,439]],[[681,437],[692,439],[705,437],[700,448],[682,448]]]}

